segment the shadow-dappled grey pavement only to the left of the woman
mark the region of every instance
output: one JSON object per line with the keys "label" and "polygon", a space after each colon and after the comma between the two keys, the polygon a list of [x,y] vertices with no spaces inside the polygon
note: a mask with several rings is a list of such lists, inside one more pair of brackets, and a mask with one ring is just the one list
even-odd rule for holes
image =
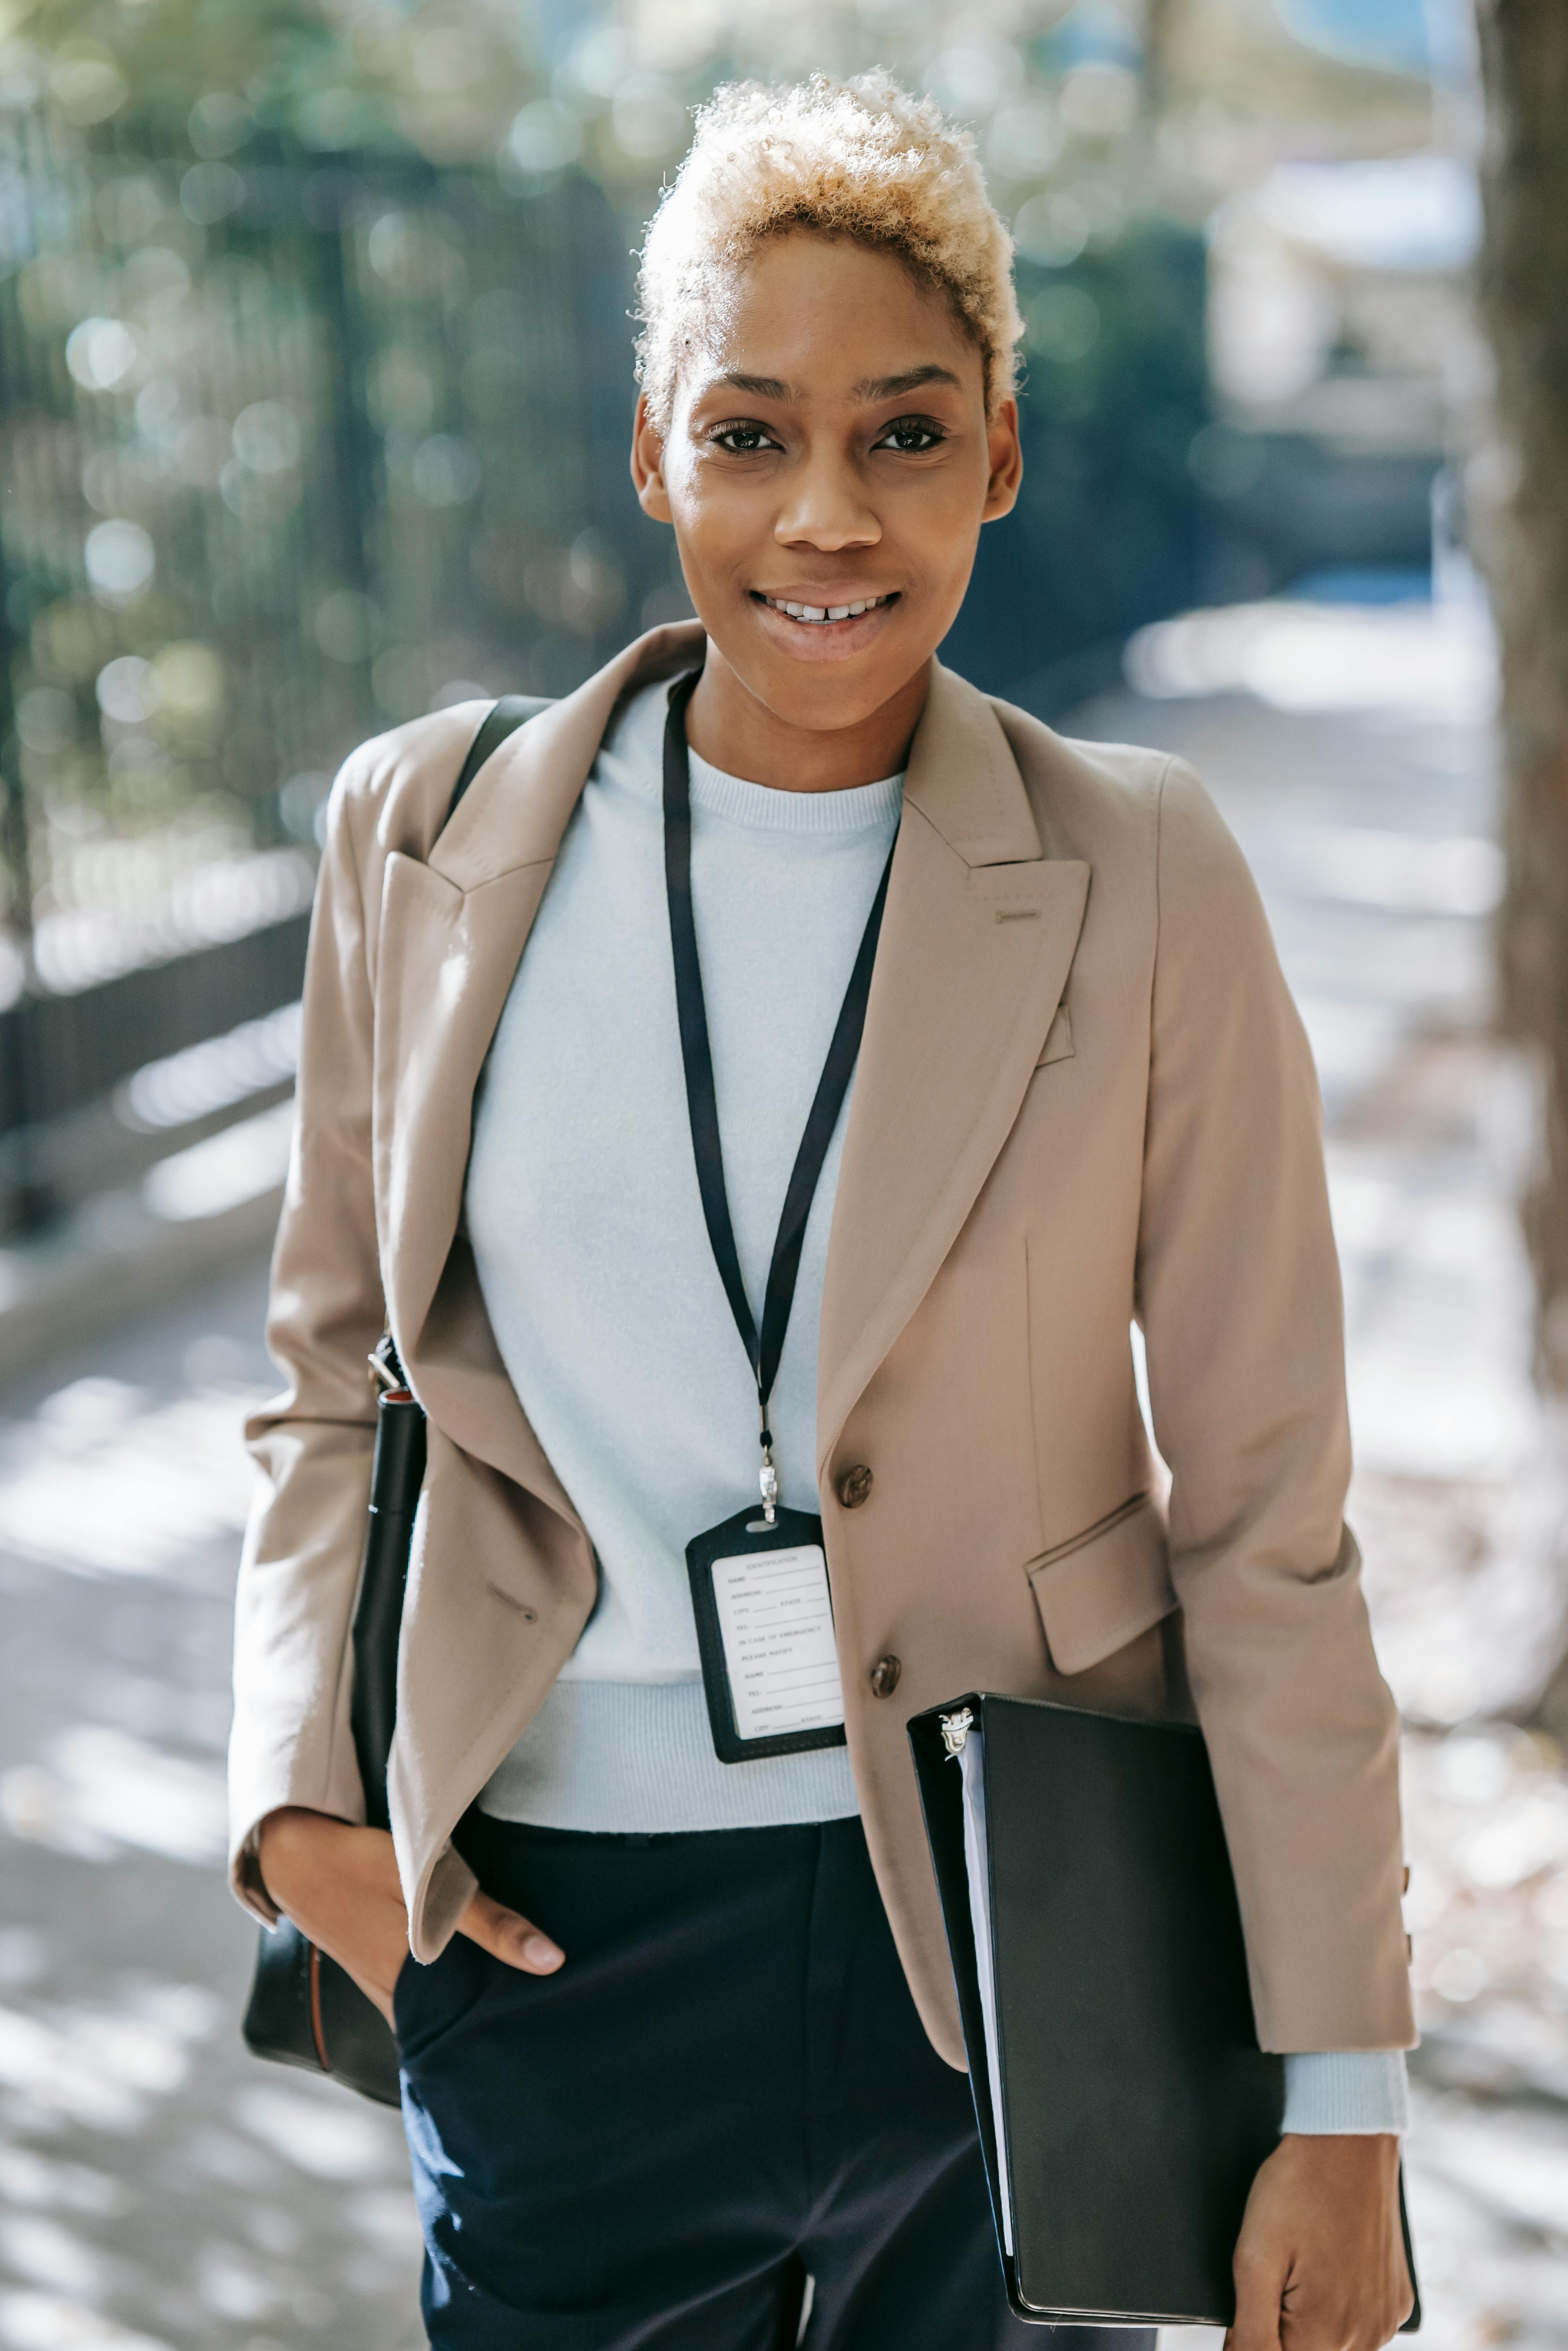
{"label": "shadow-dappled grey pavement only to the left of the woman", "polygon": [[256,2064],[223,1883],[266,1265],[0,1394],[0,2346],[416,2351],[395,2114]]}

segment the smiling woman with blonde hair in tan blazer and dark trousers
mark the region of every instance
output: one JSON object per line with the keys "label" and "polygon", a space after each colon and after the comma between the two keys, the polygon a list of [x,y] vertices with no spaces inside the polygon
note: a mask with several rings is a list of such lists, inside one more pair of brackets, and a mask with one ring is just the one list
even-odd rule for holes
{"label": "smiling woman with blonde hair in tan blazer and dark trousers", "polygon": [[[632,442],[698,621],[451,823],[473,705],[334,792],[235,1874],[395,2015],[435,2344],[759,2351],[804,2276],[818,2351],[1027,2339],[905,1749],[976,1686],[1197,1700],[1293,2052],[1237,2344],[1408,2311],[1394,1712],[1307,1046],[1201,785],[933,658],[1018,494],[1009,254],[884,78],[719,94],[649,233]],[[393,1836],[348,1733],[383,1300],[430,1420]],[[731,1516],[823,1542],[842,1683],[741,1761],[684,1559],[745,1582]]]}

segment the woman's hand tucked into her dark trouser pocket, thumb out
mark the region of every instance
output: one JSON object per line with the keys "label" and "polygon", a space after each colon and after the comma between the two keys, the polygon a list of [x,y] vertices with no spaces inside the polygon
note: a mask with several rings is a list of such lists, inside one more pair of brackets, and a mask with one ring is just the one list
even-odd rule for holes
{"label": "woman's hand tucked into her dark trouser pocket, thumb out", "polygon": [[[261,1822],[256,1857],[277,1909],[353,1975],[390,2024],[393,1984],[409,1956],[409,1914],[386,1829],[350,1829],[327,1813],[287,1806]],[[524,1975],[555,1975],[567,1956],[489,1895],[473,1897],[458,1933]]]}

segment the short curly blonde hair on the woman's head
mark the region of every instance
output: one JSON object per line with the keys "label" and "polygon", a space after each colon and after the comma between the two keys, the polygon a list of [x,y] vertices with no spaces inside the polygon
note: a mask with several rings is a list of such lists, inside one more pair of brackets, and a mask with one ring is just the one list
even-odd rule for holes
{"label": "short curly blonde hair on the woman's head", "polygon": [[1016,381],[1023,334],[1013,240],[985,193],[969,132],[891,73],[773,89],[729,82],[649,221],[637,275],[637,381],[665,433],[679,362],[703,339],[722,277],[792,228],[896,254],[936,287],[980,353],[985,411]]}

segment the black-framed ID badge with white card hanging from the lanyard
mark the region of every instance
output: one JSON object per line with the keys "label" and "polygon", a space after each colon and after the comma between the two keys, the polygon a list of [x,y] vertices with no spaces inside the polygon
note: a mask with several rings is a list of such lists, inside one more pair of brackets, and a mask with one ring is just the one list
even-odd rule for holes
{"label": "black-framed ID badge with white card hanging from the lanyard", "polygon": [[686,1545],[712,1744],[722,1763],[844,1747],[823,1521],[757,1502]]}

